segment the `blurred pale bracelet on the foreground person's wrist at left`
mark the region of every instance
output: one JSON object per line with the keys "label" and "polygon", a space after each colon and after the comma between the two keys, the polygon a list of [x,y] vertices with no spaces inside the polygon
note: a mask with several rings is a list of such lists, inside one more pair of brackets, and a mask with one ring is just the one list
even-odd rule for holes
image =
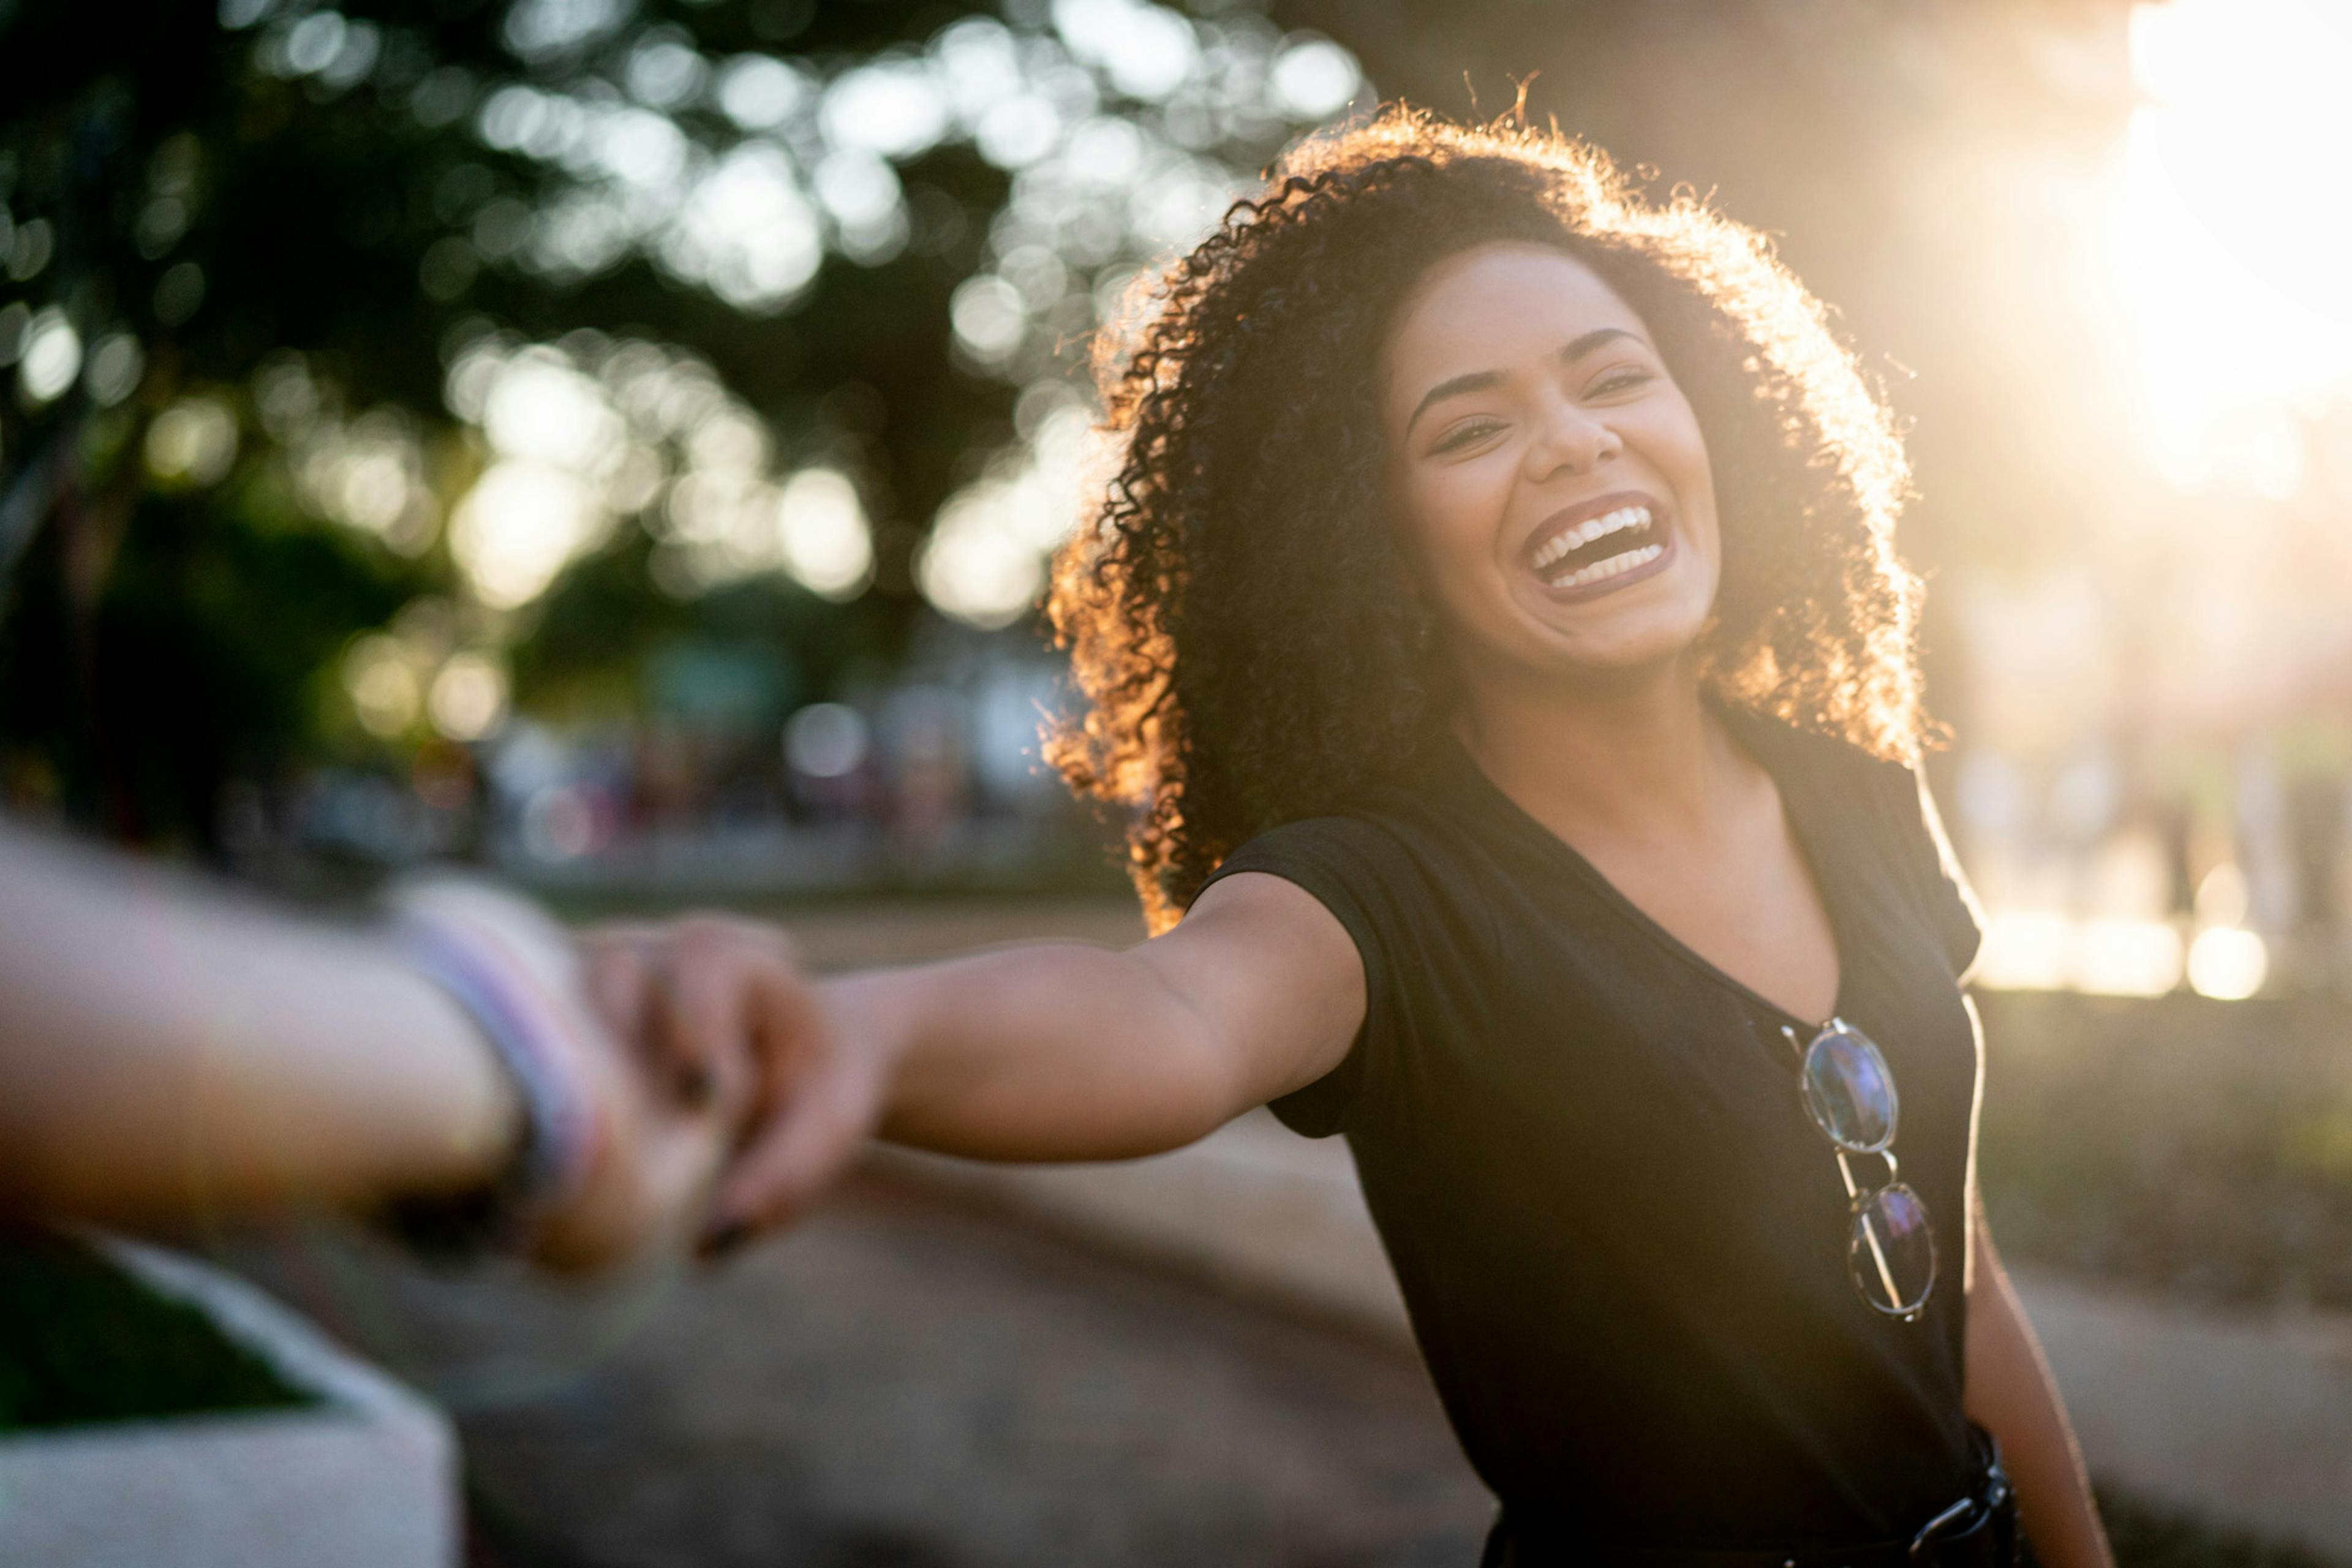
{"label": "blurred pale bracelet on the foreground person's wrist at left", "polygon": [[590,1088],[600,1025],[562,926],[480,882],[414,882],[388,896],[393,938],[482,1030],[522,1098],[506,1173],[461,1199],[402,1201],[395,1227],[435,1253],[513,1248],[595,1171],[607,1128]]}

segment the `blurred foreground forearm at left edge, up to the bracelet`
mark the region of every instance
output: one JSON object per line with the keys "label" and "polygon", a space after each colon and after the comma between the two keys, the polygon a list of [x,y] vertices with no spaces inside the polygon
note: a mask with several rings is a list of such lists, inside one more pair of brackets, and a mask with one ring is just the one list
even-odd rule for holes
{"label": "blurred foreground forearm at left edge, up to the bracelet", "polygon": [[473,1185],[520,1107],[376,940],[0,825],[0,1206],[141,1222]]}

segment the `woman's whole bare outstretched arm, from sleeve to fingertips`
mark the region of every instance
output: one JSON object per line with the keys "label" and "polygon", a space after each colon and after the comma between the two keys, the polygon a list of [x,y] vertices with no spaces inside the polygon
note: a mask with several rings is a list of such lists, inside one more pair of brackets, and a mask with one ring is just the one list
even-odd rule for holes
{"label": "woman's whole bare outstretched arm, from sleeve to fingertips", "polygon": [[619,1027],[748,1041],[760,1065],[713,1244],[790,1220],[868,1135],[976,1159],[1181,1147],[1329,1072],[1364,1020],[1348,931],[1268,875],[1218,882],[1124,952],[1042,943],[809,983],[774,929],[699,919],[593,936],[590,966]]}

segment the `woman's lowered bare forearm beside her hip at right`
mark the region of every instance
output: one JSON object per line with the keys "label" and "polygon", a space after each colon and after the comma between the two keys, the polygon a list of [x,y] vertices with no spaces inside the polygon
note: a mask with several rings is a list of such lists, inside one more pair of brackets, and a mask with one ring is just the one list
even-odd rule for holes
{"label": "woman's lowered bare forearm beside her hip at right", "polygon": [[2042,1345],[1978,1215],[1969,1288],[1966,1408],[2002,1441],[2018,1516],[2049,1568],[2112,1568],[2082,1450]]}

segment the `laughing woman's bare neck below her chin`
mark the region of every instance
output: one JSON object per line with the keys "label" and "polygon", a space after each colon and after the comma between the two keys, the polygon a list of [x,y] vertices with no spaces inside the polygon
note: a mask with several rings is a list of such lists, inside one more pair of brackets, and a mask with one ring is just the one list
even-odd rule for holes
{"label": "laughing woman's bare neck below her chin", "polygon": [[1689,658],[1602,682],[1465,682],[1454,733],[1496,788],[1566,837],[1705,832],[1726,776]]}

